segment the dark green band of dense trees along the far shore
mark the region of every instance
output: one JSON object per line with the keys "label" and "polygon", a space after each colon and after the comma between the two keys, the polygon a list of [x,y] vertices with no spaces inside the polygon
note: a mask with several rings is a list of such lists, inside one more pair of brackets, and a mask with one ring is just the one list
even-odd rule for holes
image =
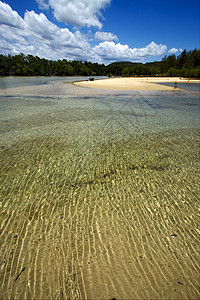
{"label": "dark green band of dense trees along the far shore", "polygon": [[179,56],[165,56],[152,63],[116,62],[104,64],[52,61],[38,56],[0,55],[0,76],[183,76],[200,78],[200,50],[184,50]]}

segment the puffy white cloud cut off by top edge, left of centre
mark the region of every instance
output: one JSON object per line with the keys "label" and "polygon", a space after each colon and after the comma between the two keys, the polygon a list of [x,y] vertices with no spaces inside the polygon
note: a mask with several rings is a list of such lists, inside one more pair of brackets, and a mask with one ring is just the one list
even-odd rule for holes
{"label": "puffy white cloud cut off by top edge, left of centre", "polygon": [[36,0],[40,8],[51,7],[54,17],[65,24],[102,28],[100,11],[111,0]]}

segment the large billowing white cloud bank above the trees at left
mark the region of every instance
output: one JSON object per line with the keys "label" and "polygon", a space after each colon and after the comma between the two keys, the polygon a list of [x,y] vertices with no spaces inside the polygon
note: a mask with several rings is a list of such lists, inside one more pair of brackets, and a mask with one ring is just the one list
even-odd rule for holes
{"label": "large billowing white cloud bank above the trees at left", "polygon": [[[8,14],[6,22],[0,19],[0,53],[7,55],[23,52],[55,60],[79,59],[84,55],[88,57],[90,45],[78,30],[73,33],[68,28],[59,28],[43,13],[36,14],[34,11],[27,11],[23,20],[9,5],[5,7]],[[19,20],[23,29],[13,26],[18,25]]]}

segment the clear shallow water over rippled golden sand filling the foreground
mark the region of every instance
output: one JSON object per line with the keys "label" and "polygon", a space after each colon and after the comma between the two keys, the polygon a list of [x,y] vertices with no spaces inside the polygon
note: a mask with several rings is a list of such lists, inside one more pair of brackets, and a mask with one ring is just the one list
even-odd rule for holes
{"label": "clear shallow water over rippled golden sand filling the foreground", "polygon": [[198,92],[58,83],[1,93],[1,298],[199,299]]}

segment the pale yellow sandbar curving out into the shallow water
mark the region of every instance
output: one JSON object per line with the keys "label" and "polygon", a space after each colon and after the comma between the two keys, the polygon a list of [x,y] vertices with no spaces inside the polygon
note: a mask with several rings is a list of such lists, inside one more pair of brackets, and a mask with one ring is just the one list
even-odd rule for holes
{"label": "pale yellow sandbar curving out into the shallow water", "polygon": [[[191,80],[180,77],[131,77],[131,78],[109,78],[94,81],[76,82],[75,85],[82,87],[98,88],[104,90],[132,90],[132,91],[172,91],[179,90],[175,82],[200,83],[200,80]],[[159,84],[157,84],[159,83]],[[174,87],[162,85],[161,83],[174,83]]]}

